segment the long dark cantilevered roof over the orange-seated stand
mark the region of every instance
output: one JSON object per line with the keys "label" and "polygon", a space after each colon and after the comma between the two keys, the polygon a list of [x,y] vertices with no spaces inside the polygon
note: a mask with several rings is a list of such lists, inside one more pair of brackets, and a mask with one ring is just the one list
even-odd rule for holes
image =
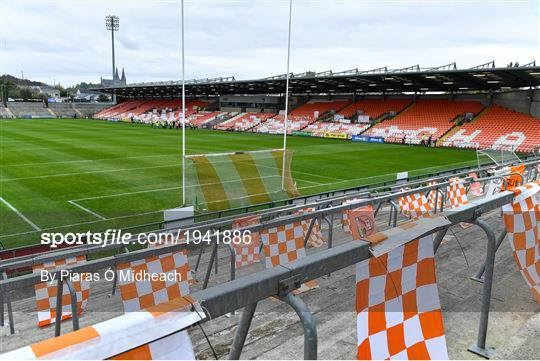
{"label": "long dark cantilevered roof over the orange-seated stand", "polygon": [[[494,62],[469,69],[456,64],[435,68],[418,65],[361,71],[305,72],[292,74],[291,94],[353,94],[395,92],[468,92],[497,91],[540,86],[540,67],[536,63],[496,68]],[[286,74],[263,79],[236,80],[234,77],[186,81],[186,95],[283,94]],[[123,97],[175,97],[181,94],[182,82],[138,83],[116,87],[99,87],[106,93]]]}

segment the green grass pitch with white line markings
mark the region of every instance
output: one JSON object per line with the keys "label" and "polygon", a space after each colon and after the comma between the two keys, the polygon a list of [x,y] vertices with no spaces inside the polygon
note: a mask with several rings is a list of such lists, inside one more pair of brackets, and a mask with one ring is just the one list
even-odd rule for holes
{"label": "green grass pitch with white line markings", "polygon": [[[191,130],[190,154],[272,149],[282,136]],[[472,165],[472,151],[289,137],[293,177],[313,194]],[[81,119],[0,120],[0,241],[162,219],[181,203],[181,132]]]}

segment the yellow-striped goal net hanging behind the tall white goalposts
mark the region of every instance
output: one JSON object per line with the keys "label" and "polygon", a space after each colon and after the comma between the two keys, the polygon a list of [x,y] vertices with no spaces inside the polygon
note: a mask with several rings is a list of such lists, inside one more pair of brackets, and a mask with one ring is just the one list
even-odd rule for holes
{"label": "yellow-striped goal net hanging behind the tall white goalposts", "polygon": [[291,162],[281,149],[187,156],[186,205],[211,212],[298,196]]}

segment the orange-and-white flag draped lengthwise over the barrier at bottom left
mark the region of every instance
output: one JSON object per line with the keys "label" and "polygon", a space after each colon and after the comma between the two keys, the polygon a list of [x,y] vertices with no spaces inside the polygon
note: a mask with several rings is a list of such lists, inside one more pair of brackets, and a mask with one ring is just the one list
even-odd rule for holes
{"label": "orange-and-white flag draped lengthwise over the barrier at bottom left", "polygon": [[2,355],[5,360],[187,360],[195,359],[185,328],[203,320],[191,297],[177,298],[37,342]]}

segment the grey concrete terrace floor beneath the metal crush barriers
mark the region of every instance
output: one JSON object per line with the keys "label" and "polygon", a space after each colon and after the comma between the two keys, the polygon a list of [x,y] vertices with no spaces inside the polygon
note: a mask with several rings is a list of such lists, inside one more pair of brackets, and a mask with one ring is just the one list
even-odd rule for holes
{"label": "grey concrete terrace floor beneath the metal crush barriers", "polygon": [[[388,210],[377,218],[379,229],[387,228]],[[499,211],[482,217],[499,232],[503,224]],[[402,219],[404,220],[404,219]],[[350,237],[334,226],[335,244],[350,241]],[[323,231],[324,234],[324,231]],[[439,294],[444,314],[446,341],[451,359],[480,358],[467,351],[476,340],[479,323],[482,284],[470,279],[485,257],[485,235],[477,227],[452,227],[436,255]],[[308,254],[317,249],[308,249]],[[197,274],[203,279],[209,261],[203,256]],[[196,253],[190,255],[190,264]],[[219,252],[219,273],[212,274],[210,286],[226,282],[229,277],[228,251]],[[256,272],[263,263],[237,270],[237,277]],[[331,276],[318,279],[320,287],[302,294],[313,312],[318,331],[318,357],[322,359],[352,359],[356,357],[356,314],[354,267],[346,267]],[[201,287],[200,283],[193,290]],[[119,295],[110,296],[111,284],[92,283],[88,309],[81,317],[81,327],[95,324],[123,313]],[[37,328],[33,289],[13,295],[16,334],[9,335],[7,326],[0,328],[0,351],[6,352],[54,335],[54,326]],[[496,348],[495,358],[540,358],[540,306],[533,300],[525,281],[512,258],[505,240],[495,264],[492,305],[487,343]],[[220,317],[202,325],[219,358],[227,358],[241,311],[230,317]],[[63,332],[72,329],[66,321]],[[199,359],[213,359],[213,353],[198,327],[190,330]],[[301,359],[304,336],[298,317],[286,304],[275,299],[259,303],[242,353],[245,359]]]}

